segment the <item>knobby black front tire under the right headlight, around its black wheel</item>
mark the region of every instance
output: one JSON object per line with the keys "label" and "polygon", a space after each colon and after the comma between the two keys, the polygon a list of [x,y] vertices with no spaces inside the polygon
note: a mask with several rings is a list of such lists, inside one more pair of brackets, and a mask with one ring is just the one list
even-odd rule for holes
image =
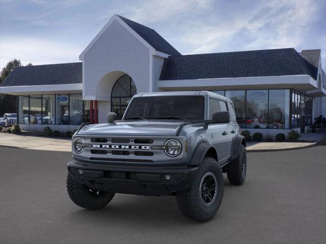
{"label": "knobby black front tire under the right headlight, around its black wheel", "polygon": [[[201,182],[204,176],[212,173],[217,184],[217,192],[210,205],[204,205],[201,193]],[[207,177],[207,176],[206,176]],[[213,177],[212,175],[210,177]],[[177,202],[181,213],[192,220],[206,222],[213,218],[220,208],[224,191],[224,178],[218,162],[209,157],[205,157],[198,167],[196,177],[188,190],[177,192]]]}

